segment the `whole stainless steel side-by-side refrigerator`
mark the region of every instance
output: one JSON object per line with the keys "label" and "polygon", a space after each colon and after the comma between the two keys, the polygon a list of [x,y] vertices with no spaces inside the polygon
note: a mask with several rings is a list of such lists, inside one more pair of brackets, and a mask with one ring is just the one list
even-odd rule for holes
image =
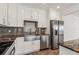
{"label": "whole stainless steel side-by-side refrigerator", "polygon": [[63,40],[64,40],[64,21],[51,20],[50,21],[51,49],[58,49],[59,44],[63,44]]}

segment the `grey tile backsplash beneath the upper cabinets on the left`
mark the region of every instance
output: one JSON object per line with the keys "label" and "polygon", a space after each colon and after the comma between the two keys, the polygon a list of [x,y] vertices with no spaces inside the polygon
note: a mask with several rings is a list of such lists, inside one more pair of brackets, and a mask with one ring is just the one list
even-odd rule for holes
{"label": "grey tile backsplash beneath the upper cabinets on the left", "polygon": [[23,29],[18,30],[16,27],[0,27],[0,35],[16,35],[18,32],[23,32]]}

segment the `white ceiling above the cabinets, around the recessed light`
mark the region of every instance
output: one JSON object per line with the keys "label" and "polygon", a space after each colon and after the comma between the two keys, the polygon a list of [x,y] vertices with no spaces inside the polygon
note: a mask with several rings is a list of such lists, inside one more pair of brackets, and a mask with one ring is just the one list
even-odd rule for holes
{"label": "white ceiling above the cabinets, around the recessed light", "polygon": [[79,5],[79,3],[22,3],[22,5],[30,6],[34,8],[53,8],[57,9],[57,6],[60,6],[61,11],[66,10],[68,8],[74,7],[75,5]]}

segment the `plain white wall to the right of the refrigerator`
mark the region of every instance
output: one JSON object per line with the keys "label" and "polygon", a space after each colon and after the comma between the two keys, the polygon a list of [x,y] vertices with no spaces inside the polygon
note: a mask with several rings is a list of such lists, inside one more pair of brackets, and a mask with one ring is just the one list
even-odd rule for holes
{"label": "plain white wall to the right of the refrigerator", "polygon": [[79,17],[67,15],[64,20],[64,41],[79,39]]}

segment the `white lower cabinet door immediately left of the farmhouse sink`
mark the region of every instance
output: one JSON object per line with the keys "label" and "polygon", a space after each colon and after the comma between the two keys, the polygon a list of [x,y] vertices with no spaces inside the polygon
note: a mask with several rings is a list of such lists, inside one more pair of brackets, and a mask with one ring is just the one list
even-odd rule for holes
{"label": "white lower cabinet door immediately left of the farmhouse sink", "polygon": [[24,54],[24,37],[18,37],[15,40],[15,54]]}

